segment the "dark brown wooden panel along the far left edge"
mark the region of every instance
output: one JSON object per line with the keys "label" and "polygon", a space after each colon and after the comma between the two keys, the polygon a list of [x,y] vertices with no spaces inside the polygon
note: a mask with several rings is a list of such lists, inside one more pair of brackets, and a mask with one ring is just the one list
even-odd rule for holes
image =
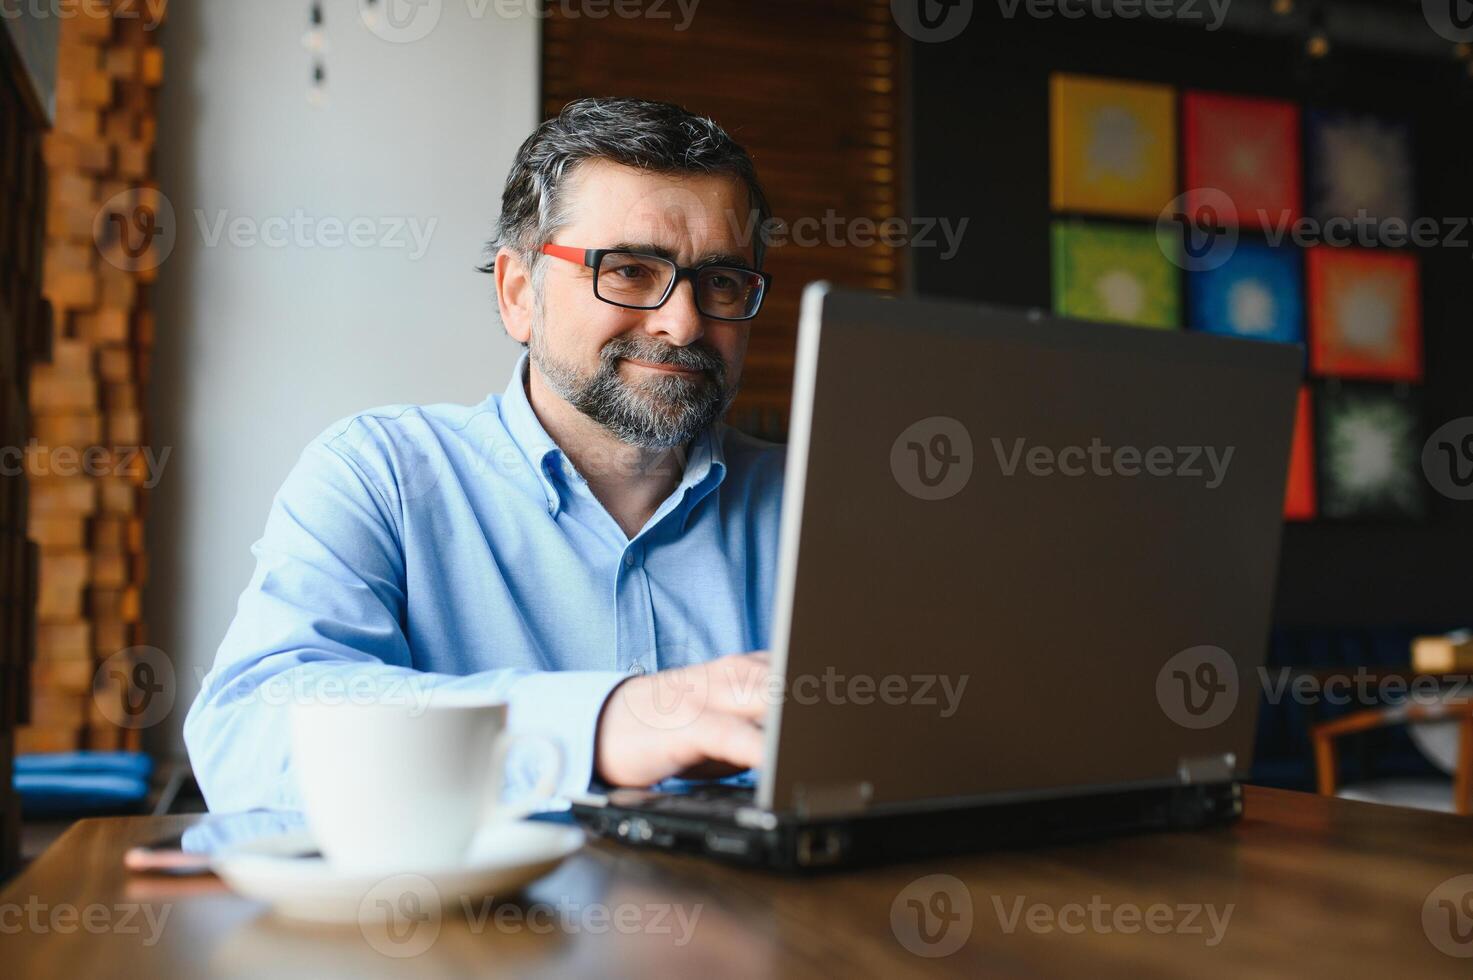
{"label": "dark brown wooden panel along the far left edge", "polygon": [[50,314],[41,298],[46,164],[40,112],[18,87],[19,59],[0,32],[0,878],[19,861],[21,812],[12,793],[16,727],[29,706],[35,634],[35,547],[27,541],[25,445],[32,358],[46,357]]}

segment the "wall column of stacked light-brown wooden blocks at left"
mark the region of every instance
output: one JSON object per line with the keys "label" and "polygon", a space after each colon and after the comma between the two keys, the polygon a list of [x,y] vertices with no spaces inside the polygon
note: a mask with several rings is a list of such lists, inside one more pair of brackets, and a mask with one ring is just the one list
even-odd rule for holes
{"label": "wall column of stacked light-brown wooden blocks at left", "polygon": [[[40,623],[22,752],[137,749],[140,741],[137,729],[109,721],[127,713],[103,704],[105,697],[122,699],[122,688],[94,697],[93,678],[103,659],[144,641],[147,470],[136,448],[146,438],[149,284],[158,256],[122,251],[109,215],[122,215],[133,245],[143,240],[136,208],[152,205],[155,193],[155,94],[164,72],[156,27],[136,12],[62,24],[56,127],[44,144],[55,357],[31,376]],[[57,455],[87,449],[87,469],[77,457]]]}

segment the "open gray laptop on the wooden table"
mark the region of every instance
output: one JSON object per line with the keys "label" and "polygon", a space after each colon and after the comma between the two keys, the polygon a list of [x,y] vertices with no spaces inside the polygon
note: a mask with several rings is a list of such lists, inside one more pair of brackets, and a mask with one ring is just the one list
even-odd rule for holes
{"label": "open gray laptop on the wooden table", "polygon": [[1302,357],[810,284],[763,766],[574,816],[778,869],[1236,819]]}

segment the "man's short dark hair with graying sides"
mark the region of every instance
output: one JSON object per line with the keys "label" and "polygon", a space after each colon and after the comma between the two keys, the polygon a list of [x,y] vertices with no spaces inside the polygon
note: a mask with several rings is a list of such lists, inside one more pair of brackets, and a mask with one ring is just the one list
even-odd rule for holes
{"label": "man's short dark hair with graying sides", "polygon": [[[605,159],[654,174],[725,174],[747,184],[756,221],[753,248],[757,268],[766,252],[762,231],[772,217],[757,183],[751,156],[711,119],[667,102],[644,99],[579,99],[546,119],[517,150],[501,193],[501,218],[486,249],[495,270],[498,249],[507,248],[532,268],[542,292],[542,246],[567,224],[563,183],[579,164]],[[745,224],[745,223],[744,223]]]}

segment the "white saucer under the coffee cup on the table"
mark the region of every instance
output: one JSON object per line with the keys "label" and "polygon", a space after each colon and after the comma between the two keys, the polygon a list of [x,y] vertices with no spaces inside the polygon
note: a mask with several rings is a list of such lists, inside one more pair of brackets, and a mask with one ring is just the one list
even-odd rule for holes
{"label": "white saucer under the coffee cup on the table", "polygon": [[482,834],[465,862],[446,868],[343,872],[320,856],[273,853],[283,847],[270,840],[215,858],[211,868],[234,892],[265,902],[280,915],[314,923],[359,923],[361,908],[370,896],[395,897],[412,892],[417,900],[436,902],[449,915],[461,908],[463,899],[516,892],[557,868],[585,841],[577,827],[521,821]]}

